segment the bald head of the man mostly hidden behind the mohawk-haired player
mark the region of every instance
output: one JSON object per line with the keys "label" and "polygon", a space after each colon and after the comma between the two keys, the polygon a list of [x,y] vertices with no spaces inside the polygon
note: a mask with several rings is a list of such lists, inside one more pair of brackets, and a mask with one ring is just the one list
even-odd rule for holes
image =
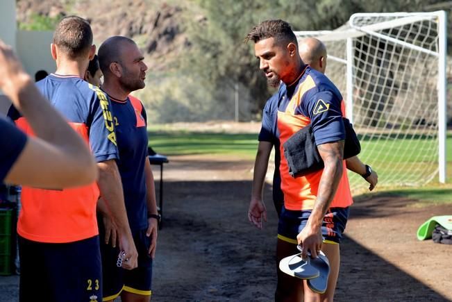
{"label": "bald head of the man mostly hidden behind the mohawk-haired player", "polygon": [[322,74],[326,70],[326,47],[315,37],[306,37],[299,44],[301,60]]}

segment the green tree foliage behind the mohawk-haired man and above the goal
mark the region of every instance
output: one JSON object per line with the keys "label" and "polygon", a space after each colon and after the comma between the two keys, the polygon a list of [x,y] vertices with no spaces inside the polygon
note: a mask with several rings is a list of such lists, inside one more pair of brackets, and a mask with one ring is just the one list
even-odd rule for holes
{"label": "green tree foliage behind the mohawk-haired man and above the goal", "polygon": [[[253,113],[262,110],[272,91],[258,70],[252,44],[243,40],[253,26],[265,19],[284,19],[294,31],[327,30],[345,24],[355,12],[419,11],[437,1],[426,0],[192,0],[206,19],[192,22],[187,33],[192,41],[185,67],[216,87],[212,98],[221,101],[219,92],[241,83],[248,90]],[[217,92],[217,95],[215,95]]]}

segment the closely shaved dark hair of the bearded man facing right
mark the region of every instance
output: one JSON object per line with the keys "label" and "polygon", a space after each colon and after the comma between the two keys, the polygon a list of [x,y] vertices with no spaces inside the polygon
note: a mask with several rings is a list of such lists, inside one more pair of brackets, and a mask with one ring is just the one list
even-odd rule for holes
{"label": "closely shaved dark hair of the bearded man facing right", "polygon": [[99,66],[103,76],[110,73],[110,64],[112,62],[121,63],[122,47],[121,45],[126,42],[130,44],[136,44],[132,39],[124,37],[122,35],[115,35],[105,40],[101,47],[99,47]]}

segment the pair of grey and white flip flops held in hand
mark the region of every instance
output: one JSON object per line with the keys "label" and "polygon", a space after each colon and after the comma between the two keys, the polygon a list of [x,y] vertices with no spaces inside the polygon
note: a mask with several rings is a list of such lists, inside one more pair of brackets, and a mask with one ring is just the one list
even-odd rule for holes
{"label": "pair of grey and white flip flops held in hand", "polygon": [[279,262],[279,269],[290,276],[307,280],[312,292],[324,294],[328,286],[330,262],[326,255],[319,251],[317,258],[301,258],[301,253],[290,255]]}

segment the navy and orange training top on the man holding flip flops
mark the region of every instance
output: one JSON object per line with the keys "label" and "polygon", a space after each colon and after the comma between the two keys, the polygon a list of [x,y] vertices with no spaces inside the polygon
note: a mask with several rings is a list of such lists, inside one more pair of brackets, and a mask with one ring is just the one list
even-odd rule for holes
{"label": "navy and orange training top on the man holding flip flops", "polygon": [[[291,85],[281,85],[279,94],[278,125],[281,151],[281,189],[288,210],[312,210],[323,169],[293,178],[284,157],[283,144],[301,128],[311,124],[316,144],[344,140],[344,101],[337,87],[320,72],[308,65]],[[353,203],[346,165],[330,207],[345,208]]]}

